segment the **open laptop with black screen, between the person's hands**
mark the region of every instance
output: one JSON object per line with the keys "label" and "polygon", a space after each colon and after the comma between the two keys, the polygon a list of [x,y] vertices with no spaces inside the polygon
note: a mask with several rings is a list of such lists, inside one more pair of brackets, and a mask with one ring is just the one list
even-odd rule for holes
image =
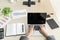
{"label": "open laptop with black screen, between the person's hands", "polygon": [[47,13],[28,13],[27,14],[27,23],[28,25],[34,25],[34,35],[40,35],[38,31],[38,26],[46,23]]}

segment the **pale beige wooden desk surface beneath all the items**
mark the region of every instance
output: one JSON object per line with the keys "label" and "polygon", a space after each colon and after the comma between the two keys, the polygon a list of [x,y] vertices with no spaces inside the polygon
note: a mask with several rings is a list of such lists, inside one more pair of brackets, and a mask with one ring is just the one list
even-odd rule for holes
{"label": "pale beige wooden desk surface beneath all the items", "polygon": [[[10,7],[12,10],[21,10],[21,9],[27,9],[28,12],[47,12],[48,14],[50,13],[54,13],[52,15],[52,18],[55,19],[55,21],[60,24],[55,16],[55,12],[54,9],[52,8],[49,0],[41,0],[40,3],[38,3],[38,0],[35,0],[36,5],[33,5],[31,7],[27,7],[23,4],[23,1],[25,0],[17,0],[16,3],[10,3],[8,0],[0,0],[0,9],[2,10],[4,7]],[[1,10],[0,10],[0,14],[1,14]],[[21,18],[21,19],[17,19],[17,20],[13,20],[10,23],[14,23],[14,22],[24,22],[27,23],[25,18]],[[5,28],[5,27],[4,27]],[[56,40],[60,40],[60,28],[57,29],[50,29],[49,25],[46,23],[46,30],[49,33],[49,35],[54,35]],[[19,36],[12,36],[12,37],[5,37],[4,40],[19,40],[21,35]],[[44,37],[40,37],[40,36],[32,36],[30,38],[31,40],[44,40]]]}

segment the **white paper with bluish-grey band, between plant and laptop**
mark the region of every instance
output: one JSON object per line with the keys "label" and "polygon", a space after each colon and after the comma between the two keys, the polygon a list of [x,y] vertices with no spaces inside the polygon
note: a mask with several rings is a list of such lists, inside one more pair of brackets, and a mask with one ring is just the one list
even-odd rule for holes
{"label": "white paper with bluish-grey band, between plant and laptop", "polygon": [[22,17],[26,17],[27,16],[27,11],[26,9],[23,10],[16,10],[12,12],[12,18],[16,19],[16,18],[22,18]]}

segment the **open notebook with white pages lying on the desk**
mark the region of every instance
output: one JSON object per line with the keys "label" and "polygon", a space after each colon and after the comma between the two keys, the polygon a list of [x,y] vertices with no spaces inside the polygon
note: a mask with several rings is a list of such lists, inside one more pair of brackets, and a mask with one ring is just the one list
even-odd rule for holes
{"label": "open notebook with white pages lying on the desk", "polygon": [[24,23],[12,23],[6,26],[6,36],[25,34]]}

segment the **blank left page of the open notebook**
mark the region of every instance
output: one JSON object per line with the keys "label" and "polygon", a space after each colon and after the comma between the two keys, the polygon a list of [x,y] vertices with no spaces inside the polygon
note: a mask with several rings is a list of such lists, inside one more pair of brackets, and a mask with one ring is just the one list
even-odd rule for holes
{"label": "blank left page of the open notebook", "polygon": [[6,36],[16,35],[16,24],[8,24],[6,27]]}

